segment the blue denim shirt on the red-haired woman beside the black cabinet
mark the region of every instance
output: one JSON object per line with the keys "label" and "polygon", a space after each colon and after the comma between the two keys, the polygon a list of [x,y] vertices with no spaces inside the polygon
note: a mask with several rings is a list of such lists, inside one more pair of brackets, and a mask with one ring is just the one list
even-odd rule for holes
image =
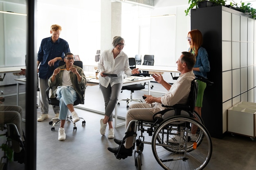
{"label": "blue denim shirt on the red-haired woman beside the black cabinet", "polygon": [[205,48],[200,47],[198,49],[198,55],[195,57],[195,59],[196,59],[196,62],[195,62],[194,68],[199,68],[200,72],[193,71],[194,74],[207,78],[207,72],[210,71],[210,63],[208,60],[208,53],[205,50]]}

